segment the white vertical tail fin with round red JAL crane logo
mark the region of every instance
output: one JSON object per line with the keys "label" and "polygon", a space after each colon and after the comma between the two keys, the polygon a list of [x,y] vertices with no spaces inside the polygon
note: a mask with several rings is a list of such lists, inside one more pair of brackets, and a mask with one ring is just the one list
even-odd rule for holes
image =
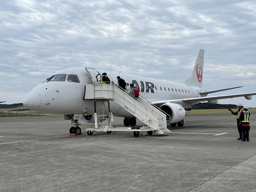
{"label": "white vertical tail fin with round red JAL crane logo", "polygon": [[184,82],[195,87],[203,87],[204,50],[200,49],[191,77]]}

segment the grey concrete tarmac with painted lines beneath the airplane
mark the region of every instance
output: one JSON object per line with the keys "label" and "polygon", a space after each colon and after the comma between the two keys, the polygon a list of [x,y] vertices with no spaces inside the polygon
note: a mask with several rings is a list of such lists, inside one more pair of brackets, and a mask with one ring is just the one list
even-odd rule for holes
{"label": "grey concrete tarmac with painted lines beneath the airplane", "polygon": [[[250,142],[236,116],[188,115],[184,127],[68,136],[64,117],[0,118],[0,191],[256,191],[256,115]],[[123,118],[114,117],[116,126]],[[142,125],[138,122],[137,125]]]}

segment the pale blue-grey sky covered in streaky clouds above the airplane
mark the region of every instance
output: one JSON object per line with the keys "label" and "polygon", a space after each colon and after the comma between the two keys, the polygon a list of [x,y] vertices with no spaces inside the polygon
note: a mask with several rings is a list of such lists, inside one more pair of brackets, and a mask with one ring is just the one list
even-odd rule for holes
{"label": "pale blue-grey sky covered in streaky clouds above the airplane", "polygon": [[[256,92],[255,10],[241,0],[1,0],[0,101],[22,102],[72,67],[184,82],[201,48],[204,89]],[[256,96],[219,101],[256,107]]]}

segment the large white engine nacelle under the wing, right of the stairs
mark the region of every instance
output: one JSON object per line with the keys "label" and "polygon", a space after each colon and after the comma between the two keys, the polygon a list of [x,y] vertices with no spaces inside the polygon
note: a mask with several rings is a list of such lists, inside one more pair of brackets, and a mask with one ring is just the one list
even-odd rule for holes
{"label": "large white engine nacelle under the wing, right of the stairs", "polygon": [[164,103],[159,108],[170,115],[170,119],[166,117],[167,123],[178,123],[187,115],[185,109],[176,103]]}

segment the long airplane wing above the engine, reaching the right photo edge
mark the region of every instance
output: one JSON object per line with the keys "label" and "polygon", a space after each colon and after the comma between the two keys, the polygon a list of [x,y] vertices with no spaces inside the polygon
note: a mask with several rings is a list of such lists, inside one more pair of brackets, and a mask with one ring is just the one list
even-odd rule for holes
{"label": "long airplane wing above the engine, reaching the right photo edge", "polygon": [[213,96],[213,97],[195,97],[195,98],[186,98],[186,99],[171,99],[171,100],[163,100],[163,101],[152,101],[154,105],[160,105],[166,102],[177,102],[183,101],[184,103],[197,103],[202,101],[214,101],[217,99],[227,99],[234,97],[248,97],[251,95],[256,95],[256,93],[245,93],[245,94],[236,94],[236,95],[222,95],[222,96]]}

